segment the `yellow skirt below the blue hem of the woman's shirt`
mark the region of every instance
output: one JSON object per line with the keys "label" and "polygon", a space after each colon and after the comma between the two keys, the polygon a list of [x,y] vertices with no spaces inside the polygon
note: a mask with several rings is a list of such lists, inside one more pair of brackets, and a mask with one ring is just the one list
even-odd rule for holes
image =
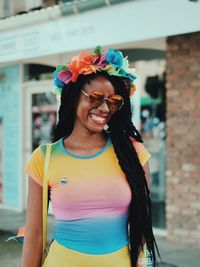
{"label": "yellow skirt below the blue hem of the woman's shirt", "polygon": [[43,267],[131,267],[131,261],[128,246],[113,253],[92,255],[65,248],[54,240]]}

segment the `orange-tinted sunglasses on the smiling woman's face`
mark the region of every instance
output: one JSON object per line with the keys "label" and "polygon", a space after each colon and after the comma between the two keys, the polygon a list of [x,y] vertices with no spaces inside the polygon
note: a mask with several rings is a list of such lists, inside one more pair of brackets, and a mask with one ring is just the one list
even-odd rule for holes
{"label": "orange-tinted sunglasses on the smiling woman's face", "polygon": [[124,99],[120,95],[113,95],[106,98],[101,92],[93,92],[91,94],[87,94],[83,90],[81,90],[81,92],[89,98],[89,103],[93,108],[97,108],[101,106],[104,102],[106,102],[109,110],[111,112],[115,112],[124,105]]}

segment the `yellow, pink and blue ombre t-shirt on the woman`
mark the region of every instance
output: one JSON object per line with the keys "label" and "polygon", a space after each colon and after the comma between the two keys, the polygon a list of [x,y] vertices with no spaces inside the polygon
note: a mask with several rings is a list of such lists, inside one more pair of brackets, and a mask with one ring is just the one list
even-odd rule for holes
{"label": "yellow, pink and blue ombre t-shirt on the woman", "polygon": [[[149,153],[142,143],[133,145],[144,165]],[[45,150],[46,145],[38,147],[26,166],[41,186]],[[63,139],[53,143],[47,177],[58,244],[91,256],[116,253],[128,245],[131,190],[110,139],[91,156],[71,153]]]}

